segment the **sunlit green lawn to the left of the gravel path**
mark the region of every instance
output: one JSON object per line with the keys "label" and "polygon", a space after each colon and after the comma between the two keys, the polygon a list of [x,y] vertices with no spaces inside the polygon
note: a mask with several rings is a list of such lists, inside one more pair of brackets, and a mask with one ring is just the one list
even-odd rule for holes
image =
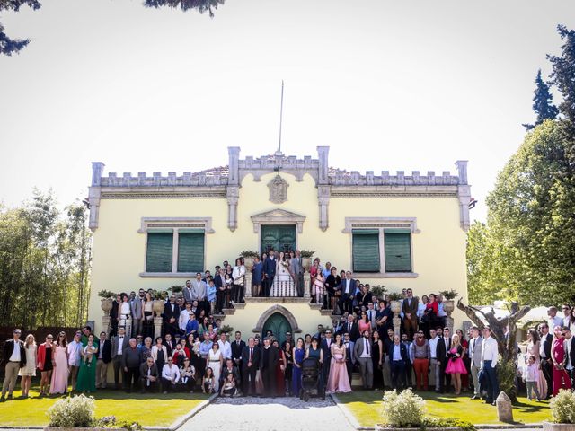
{"label": "sunlit green lawn to the left of the gravel path", "polygon": [[[0,427],[43,427],[48,425],[46,411],[57,398],[36,398],[38,391],[31,391],[31,398],[0,402]],[[20,391],[14,391],[19,397]],[[115,416],[118,420],[136,420],[144,427],[167,427],[187,414],[208,396],[202,393],[126,393],[125,391],[98,390],[92,394],[95,417]]]}

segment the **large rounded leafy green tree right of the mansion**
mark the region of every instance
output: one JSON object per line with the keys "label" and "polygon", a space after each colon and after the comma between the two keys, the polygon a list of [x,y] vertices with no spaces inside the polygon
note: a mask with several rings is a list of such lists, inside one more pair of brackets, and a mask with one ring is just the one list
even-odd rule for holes
{"label": "large rounded leafy green tree right of the mansion", "polygon": [[488,224],[473,224],[468,236],[472,303],[513,299],[549,305],[575,299],[570,146],[566,123],[546,120],[500,172],[487,198]]}

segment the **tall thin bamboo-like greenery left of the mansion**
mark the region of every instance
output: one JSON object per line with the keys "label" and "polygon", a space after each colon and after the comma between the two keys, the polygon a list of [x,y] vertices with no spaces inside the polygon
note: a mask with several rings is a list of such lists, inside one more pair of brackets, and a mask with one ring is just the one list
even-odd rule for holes
{"label": "tall thin bamboo-like greenery left of the mansion", "polygon": [[[64,214],[51,191],[21,207],[0,207],[0,321],[27,330],[79,326],[87,317],[90,242],[85,207]],[[30,298],[41,301],[30,301]],[[26,307],[13,307],[26,303]]]}

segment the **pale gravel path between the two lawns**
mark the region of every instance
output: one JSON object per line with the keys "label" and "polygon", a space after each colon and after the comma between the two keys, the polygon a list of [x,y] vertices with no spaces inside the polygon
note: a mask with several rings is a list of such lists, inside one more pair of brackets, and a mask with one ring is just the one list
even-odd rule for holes
{"label": "pale gravel path between the two lawns", "polygon": [[331,399],[216,399],[178,431],[352,431]]}

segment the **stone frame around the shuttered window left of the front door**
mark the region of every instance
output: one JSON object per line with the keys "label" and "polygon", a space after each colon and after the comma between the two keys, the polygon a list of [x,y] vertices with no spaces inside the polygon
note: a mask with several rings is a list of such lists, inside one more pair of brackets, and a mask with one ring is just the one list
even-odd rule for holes
{"label": "stone frame around the shuttered window left of the front door", "polygon": [[[146,272],[147,257],[147,233],[153,229],[172,229],[172,271],[171,272]],[[206,262],[206,235],[215,233],[212,228],[212,217],[142,217],[140,228],[137,233],[146,235],[144,240],[144,270],[139,273],[140,277],[195,277],[196,273],[178,272],[178,247],[180,229],[203,229],[204,230],[204,264]]]}

